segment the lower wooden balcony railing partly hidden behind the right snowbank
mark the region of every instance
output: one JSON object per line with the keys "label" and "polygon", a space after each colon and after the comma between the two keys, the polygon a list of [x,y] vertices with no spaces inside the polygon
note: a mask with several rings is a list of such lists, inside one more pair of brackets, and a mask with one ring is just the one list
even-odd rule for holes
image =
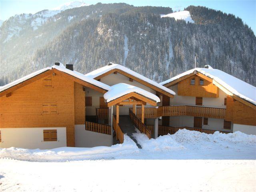
{"label": "lower wooden balcony railing partly hidden behind the right snowbank", "polygon": [[[194,127],[171,127],[171,126],[162,126],[158,125],[158,135],[167,135],[169,134],[174,134],[176,133],[179,129],[187,129],[191,131],[199,131],[202,133],[207,133],[207,134],[214,134],[216,130],[209,130],[209,129],[201,129],[201,128],[194,128]],[[221,133],[229,133],[226,131],[220,131]]]}

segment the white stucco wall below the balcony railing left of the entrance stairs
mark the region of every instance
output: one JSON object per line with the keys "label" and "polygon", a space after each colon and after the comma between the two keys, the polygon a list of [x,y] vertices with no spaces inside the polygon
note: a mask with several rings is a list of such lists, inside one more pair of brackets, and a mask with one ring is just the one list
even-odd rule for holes
{"label": "white stucco wall below the balcony railing left of the entrance stairs", "polygon": [[75,125],[76,147],[111,146],[111,135],[85,130],[85,125]]}

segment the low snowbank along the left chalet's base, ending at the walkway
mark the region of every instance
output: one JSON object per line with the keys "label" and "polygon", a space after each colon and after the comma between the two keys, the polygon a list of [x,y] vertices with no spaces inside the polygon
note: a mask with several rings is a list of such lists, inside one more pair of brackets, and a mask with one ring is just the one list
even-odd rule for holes
{"label": "low snowbank along the left chalet's base, ending at the walkway", "polygon": [[110,147],[98,146],[92,148],[60,147],[50,150],[1,148],[2,158],[14,158],[26,161],[67,161],[67,160],[96,160],[111,159],[127,154],[138,153],[138,147],[132,139],[124,135],[124,143]]}

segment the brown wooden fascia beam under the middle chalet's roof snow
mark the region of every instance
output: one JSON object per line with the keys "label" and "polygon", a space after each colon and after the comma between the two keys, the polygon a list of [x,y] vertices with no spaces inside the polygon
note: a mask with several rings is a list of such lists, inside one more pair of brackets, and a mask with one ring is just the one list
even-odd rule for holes
{"label": "brown wooden fascia beam under the middle chalet's roof snow", "polygon": [[100,79],[102,77],[105,77],[105,76],[108,76],[109,74],[112,74],[114,72],[118,72],[118,73],[120,73],[120,74],[122,74],[122,75],[124,75],[124,76],[126,76],[128,78],[132,78],[132,80],[135,80],[135,81],[137,81],[137,82],[139,82],[139,83],[141,83],[141,84],[143,84],[143,85],[145,85],[145,86],[147,86],[147,87],[149,87],[149,88],[151,88],[151,89],[153,89],[155,91],[158,91],[158,92],[160,92],[162,94],[165,94],[166,96],[168,96],[170,98],[174,97],[172,94],[170,94],[170,93],[168,93],[168,92],[166,92],[166,91],[164,91],[164,90],[162,90],[162,89],[160,89],[160,88],[158,88],[158,87],[156,87],[156,86],[154,86],[154,85],[152,85],[152,84],[150,84],[150,83],[148,83],[148,82],[146,82],[144,80],[141,80],[140,78],[137,78],[137,77],[135,77],[135,76],[133,76],[131,74],[128,74],[128,73],[126,73],[126,72],[124,72],[124,71],[122,71],[120,69],[112,69],[112,70],[110,70],[110,71],[108,71],[108,72],[106,72],[106,73],[104,73],[104,74],[102,74],[102,75],[100,75],[98,77],[95,77],[94,79],[98,80],[98,79]]}

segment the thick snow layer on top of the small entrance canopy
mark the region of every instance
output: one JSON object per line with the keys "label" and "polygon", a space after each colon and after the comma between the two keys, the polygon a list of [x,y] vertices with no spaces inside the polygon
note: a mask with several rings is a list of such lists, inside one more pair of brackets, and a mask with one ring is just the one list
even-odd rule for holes
{"label": "thick snow layer on top of the small entrance canopy", "polygon": [[115,100],[119,97],[122,97],[132,92],[136,92],[146,98],[154,100],[157,103],[160,102],[160,99],[158,98],[158,96],[146,90],[143,90],[141,88],[138,88],[136,86],[129,85],[126,83],[118,83],[118,84],[112,85],[110,87],[110,90],[104,94],[104,99],[106,100],[106,102],[110,102],[112,100]]}

